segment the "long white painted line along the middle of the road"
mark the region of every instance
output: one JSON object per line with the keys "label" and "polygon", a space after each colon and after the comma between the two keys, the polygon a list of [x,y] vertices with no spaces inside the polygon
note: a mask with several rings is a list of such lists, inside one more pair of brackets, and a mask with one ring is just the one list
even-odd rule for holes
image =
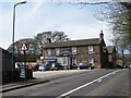
{"label": "long white painted line along the middle of the road", "polygon": [[91,85],[91,84],[93,84],[93,83],[95,83],[95,82],[99,82],[99,81],[102,81],[103,78],[105,78],[105,77],[107,77],[107,76],[109,76],[109,75],[111,75],[111,74],[115,74],[115,73],[117,73],[117,72],[119,72],[119,71],[120,71],[120,70],[117,70],[117,71],[114,71],[114,72],[111,72],[111,73],[108,73],[108,74],[106,74],[106,75],[104,75],[104,76],[102,76],[102,77],[99,77],[99,78],[96,78],[96,79],[94,79],[94,81],[92,81],[92,82],[90,82],[90,83],[86,83],[85,85],[82,85],[82,86],[80,86],[80,87],[76,87],[76,88],[68,91],[68,93],[64,93],[64,94],[60,95],[60,96],[57,97],[57,98],[61,98],[61,97],[68,96],[68,95],[72,94],[72,93],[74,93],[74,91],[76,91],[76,90],[79,90],[79,89],[81,89],[81,88],[83,88],[83,87],[85,87],[85,86],[88,86],[88,85]]}

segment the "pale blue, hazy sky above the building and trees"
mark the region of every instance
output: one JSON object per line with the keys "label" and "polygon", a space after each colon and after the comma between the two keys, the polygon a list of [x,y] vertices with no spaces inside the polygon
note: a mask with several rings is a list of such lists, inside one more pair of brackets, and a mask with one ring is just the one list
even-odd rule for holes
{"label": "pale blue, hazy sky above the building and trees", "polygon": [[[0,47],[8,49],[12,44],[13,5],[22,0],[0,1]],[[14,40],[34,38],[43,32],[64,32],[71,39],[98,38],[103,29],[110,45],[108,24],[96,19],[98,5],[78,5],[59,0],[26,0],[15,12]],[[58,1],[58,2],[57,2]]]}

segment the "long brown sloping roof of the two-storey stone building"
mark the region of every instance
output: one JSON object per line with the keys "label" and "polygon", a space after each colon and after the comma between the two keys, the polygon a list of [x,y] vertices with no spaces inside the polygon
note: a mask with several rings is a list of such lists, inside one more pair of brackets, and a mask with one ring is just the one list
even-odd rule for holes
{"label": "long brown sloping roof of the two-storey stone building", "polygon": [[99,45],[99,38],[51,42],[46,45],[45,48],[79,47],[88,45]]}

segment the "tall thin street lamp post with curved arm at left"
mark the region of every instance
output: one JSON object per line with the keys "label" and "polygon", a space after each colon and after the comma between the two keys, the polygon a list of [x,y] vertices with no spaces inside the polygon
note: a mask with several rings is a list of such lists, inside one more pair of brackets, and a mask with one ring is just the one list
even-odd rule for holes
{"label": "tall thin street lamp post with curved arm at left", "polygon": [[13,7],[13,35],[12,35],[12,81],[13,81],[13,68],[14,68],[14,28],[15,28],[15,8],[19,4],[24,4],[26,1],[21,1]]}

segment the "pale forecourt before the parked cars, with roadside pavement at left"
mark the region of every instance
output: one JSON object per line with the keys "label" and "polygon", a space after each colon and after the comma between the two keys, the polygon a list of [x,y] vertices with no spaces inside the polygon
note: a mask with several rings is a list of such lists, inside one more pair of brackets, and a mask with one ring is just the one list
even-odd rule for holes
{"label": "pale forecourt before the parked cars, with roadside pavement at left", "polygon": [[0,93],[5,93],[5,91],[23,88],[23,87],[47,83],[52,79],[64,77],[64,76],[84,74],[88,71],[94,71],[94,70],[64,70],[64,71],[44,71],[44,72],[37,71],[37,72],[33,72],[33,79],[2,85],[0,87],[1,88]]}

